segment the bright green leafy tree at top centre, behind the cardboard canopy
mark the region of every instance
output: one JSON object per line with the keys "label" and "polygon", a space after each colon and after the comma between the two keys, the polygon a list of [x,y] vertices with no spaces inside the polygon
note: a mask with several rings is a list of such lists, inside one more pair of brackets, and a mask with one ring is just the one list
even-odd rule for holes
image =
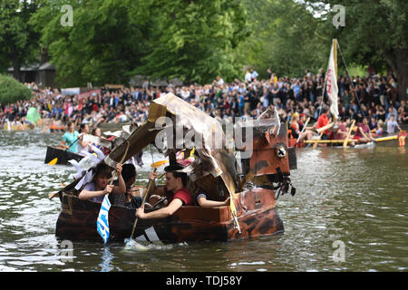
{"label": "bright green leafy tree at top centre, behind the cardboard canopy", "polygon": [[151,22],[151,44],[133,73],[186,82],[238,76],[241,64],[233,51],[248,36],[238,0],[161,0],[151,10],[157,15]]}

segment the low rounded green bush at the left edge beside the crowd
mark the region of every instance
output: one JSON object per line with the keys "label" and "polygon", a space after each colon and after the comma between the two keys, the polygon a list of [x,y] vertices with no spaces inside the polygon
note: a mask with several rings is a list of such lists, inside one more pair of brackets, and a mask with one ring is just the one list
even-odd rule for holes
{"label": "low rounded green bush at the left edge beside the crowd", "polygon": [[15,78],[0,74],[0,103],[9,104],[21,100],[29,100],[32,92]]}

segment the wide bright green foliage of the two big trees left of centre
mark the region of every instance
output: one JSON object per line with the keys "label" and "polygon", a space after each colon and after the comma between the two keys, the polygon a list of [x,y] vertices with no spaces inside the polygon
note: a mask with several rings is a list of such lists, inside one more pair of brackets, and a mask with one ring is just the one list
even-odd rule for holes
{"label": "wide bright green foliage of the two big trees left of centre", "polygon": [[[73,26],[60,24],[73,6]],[[32,18],[58,81],[127,83],[135,73],[203,82],[238,71],[233,49],[245,38],[238,0],[53,0]]]}

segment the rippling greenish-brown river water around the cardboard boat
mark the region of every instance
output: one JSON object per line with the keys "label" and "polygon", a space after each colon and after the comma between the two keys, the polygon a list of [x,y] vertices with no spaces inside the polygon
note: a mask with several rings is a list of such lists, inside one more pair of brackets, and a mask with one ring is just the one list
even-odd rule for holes
{"label": "rippling greenish-brown river water around the cardboard boat", "polygon": [[[44,164],[61,134],[0,131],[0,271],[407,271],[408,155],[374,148],[300,149],[296,196],[281,196],[285,233],[127,253],[123,243],[57,240],[58,198],[73,168]],[[144,154],[151,164],[151,154]],[[154,160],[161,160],[154,154]],[[147,183],[148,166],[138,169]],[[70,251],[66,251],[70,249]],[[71,251],[72,249],[72,251]]]}

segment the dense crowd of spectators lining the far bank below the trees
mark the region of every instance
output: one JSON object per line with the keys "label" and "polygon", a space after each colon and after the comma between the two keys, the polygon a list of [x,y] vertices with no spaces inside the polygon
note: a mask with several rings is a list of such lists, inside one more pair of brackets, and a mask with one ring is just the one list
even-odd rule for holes
{"label": "dense crowd of spectators lining the far bank below the trees", "polygon": [[[28,108],[34,106],[42,118],[66,124],[72,121],[79,126],[88,123],[97,126],[102,122],[142,122],[147,119],[151,100],[163,93],[173,92],[181,99],[207,112],[219,121],[235,122],[238,119],[257,118],[269,106],[275,105],[282,121],[290,121],[297,112],[316,121],[327,103],[322,97],[325,73],[313,75],[306,70],[302,78],[277,76],[267,70],[267,79],[258,80],[257,72],[248,71],[243,80],[226,83],[218,76],[213,83],[191,84],[174,87],[154,87],[145,82],[141,87],[106,89],[93,92],[86,98],[80,95],[63,95],[57,89],[39,88],[27,83],[33,90],[33,99],[14,104],[0,104],[0,124],[6,120],[26,122]],[[399,99],[397,82],[393,73],[367,74],[364,77],[340,75],[339,112],[363,121],[386,121],[391,115],[400,124],[408,123],[408,105]],[[323,100],[322,100],[323,99]],[[373,118],[373,119],[372,119]]]}

